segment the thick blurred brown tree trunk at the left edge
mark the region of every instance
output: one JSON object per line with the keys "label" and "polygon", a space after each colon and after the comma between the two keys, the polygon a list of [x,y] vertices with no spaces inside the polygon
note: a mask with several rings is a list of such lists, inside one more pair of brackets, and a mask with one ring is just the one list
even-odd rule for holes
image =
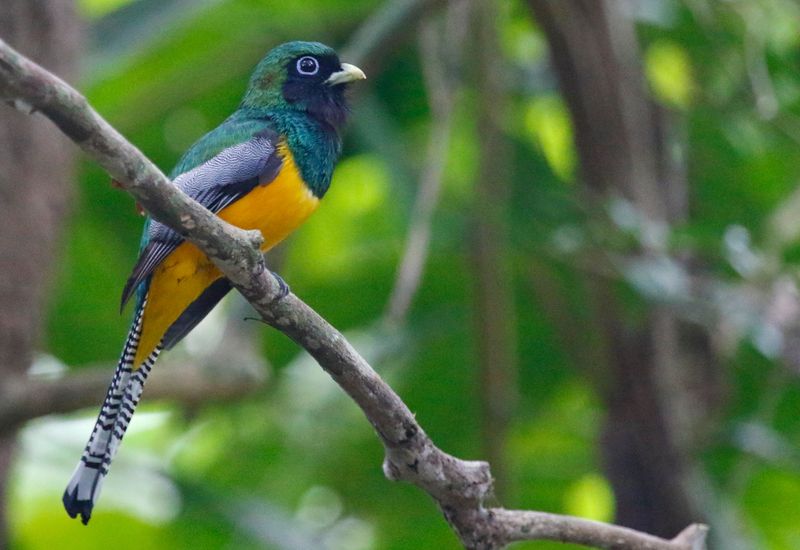
{"label": "thick blurred brown tree trunk at the left edge", "polygon": [[[0,37],[67,79],[80,27],[70,0],[3,0]],[[74,148],[43,117],[0,109],[0,384],[25,373],[39,343],[49,276],[73,179]],[[0,548],[15,434],[0,435]]]}

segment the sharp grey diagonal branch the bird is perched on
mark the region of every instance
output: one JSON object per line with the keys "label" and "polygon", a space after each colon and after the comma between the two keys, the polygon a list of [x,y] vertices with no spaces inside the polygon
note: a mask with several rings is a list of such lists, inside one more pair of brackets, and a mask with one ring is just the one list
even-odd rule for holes
{"label": "sharp grey diagonal branch the bird is perched on", "polygon": [[689,541],[667,541],[612,525],[589,529],[586,520],[578,518],[484,508],[485,499],[492,494],[489,465],[460,460],[438,449],[408,407],[341,333],[295,295],[276,300],[279,285],[264,266],[257,232],[226,224],[187,197],[77,91],[2,40],[0,97],[17,108],[40,111],[50,118],[154,218],[203,250],[268,324],[305,348],[375,428],[386,450],[386,476],[414,483],[431,495],[466,547],[500,548],[514,540],[544,538],[600,548],[702,548],[702,528],[696,529],[698,534]]}

